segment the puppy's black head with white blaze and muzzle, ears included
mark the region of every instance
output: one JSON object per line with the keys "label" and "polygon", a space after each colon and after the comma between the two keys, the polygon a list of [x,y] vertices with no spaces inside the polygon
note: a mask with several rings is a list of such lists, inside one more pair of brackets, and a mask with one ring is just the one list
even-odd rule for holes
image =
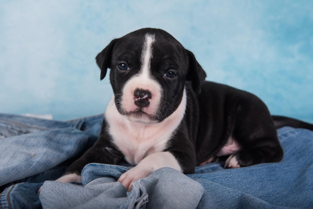
{"label": "puppy's black head with white blaze and muzzle, ears included", "polygon": [[120,114],[138,122],[159,122],[181,102],[185,82],[200,92],[205,72],[194,55],[161,29],[143,28],[113,39],[96,62],[110,83]]}

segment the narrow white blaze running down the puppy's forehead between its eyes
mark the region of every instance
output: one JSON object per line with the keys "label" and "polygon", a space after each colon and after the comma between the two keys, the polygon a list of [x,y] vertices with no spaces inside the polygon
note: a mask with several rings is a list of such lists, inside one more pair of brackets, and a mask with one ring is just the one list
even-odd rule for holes
{"label": "narrow white blaze running down the puppy's forehead between its eyes", "polygon": [[145,77],[150,75],[150,63],[153,57],[152,55],[152,43],[155,41],[154,34],[145,34],[144,43],[141,52],[141,74]]}

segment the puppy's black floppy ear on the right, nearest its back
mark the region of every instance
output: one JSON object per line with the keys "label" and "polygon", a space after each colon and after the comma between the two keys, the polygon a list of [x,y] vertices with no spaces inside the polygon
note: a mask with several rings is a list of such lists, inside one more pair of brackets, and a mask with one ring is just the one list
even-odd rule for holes
{"label": "puppy's black floppy ear on the right, nearest its back", "polygon": [[195,59],[193,53],[187,49],[186,51],[189,58],[189,67],[186,80],[190,80],[192,82],[192,89],[195,93],[200,93],[201,85],[205,80],[206,73],[199,62]]}

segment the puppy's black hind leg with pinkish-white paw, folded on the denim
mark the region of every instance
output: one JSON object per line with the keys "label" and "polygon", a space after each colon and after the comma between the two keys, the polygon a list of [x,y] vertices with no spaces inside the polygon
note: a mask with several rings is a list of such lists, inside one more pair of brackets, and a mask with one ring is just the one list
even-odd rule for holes
{"label": "puppy's black hind leg with pinkish-white paw, folded on the denim", "polygon": [[265,104],[257,100],[242,105],[234,115],[232,136],[241,147],[227,158],[225,167],[236,168],[281,160],[283,151]]}

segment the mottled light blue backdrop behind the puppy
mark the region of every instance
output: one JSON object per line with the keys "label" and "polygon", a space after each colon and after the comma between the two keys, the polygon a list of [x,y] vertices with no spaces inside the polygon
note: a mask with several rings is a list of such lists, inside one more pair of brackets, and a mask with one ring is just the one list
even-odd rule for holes
{"label": "mottled light blue backdrop behind the puppy", "polygon": [[311,0],[12,0],[0,4],[0,112],[98,114],[111,97],[95,55],[141,27],[167,30],[207,79],[313,122]]}

